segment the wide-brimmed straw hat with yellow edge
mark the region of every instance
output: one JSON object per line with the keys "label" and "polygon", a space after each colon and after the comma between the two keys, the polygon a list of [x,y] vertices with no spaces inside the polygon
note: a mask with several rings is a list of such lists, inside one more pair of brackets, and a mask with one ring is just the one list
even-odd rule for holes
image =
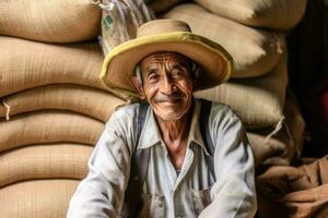
{"label": "wide-brimmed straw hat with yellow edge", "polygon": [[197,62],[202,69],[197,90],[227,81],[233,71],[232,57],[219,44],[192,34],[185,22],[154,20],[139,27],[136,39],[115,47],[106,56],[101,78],[127,98],[138,97],[131,76],[144,57],[157,51],[178,52]]}

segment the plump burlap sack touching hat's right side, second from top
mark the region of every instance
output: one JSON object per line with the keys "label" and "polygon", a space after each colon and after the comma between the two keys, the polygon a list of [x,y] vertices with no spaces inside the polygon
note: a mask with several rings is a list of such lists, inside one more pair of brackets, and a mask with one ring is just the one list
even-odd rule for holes
{"label": "plump burlap sack touching hat's right side, second from top", "polygon": [[263,75],[277,64],[283,45],[281,34],[251,28],[214,15],[197,4],[181,4],[164,17],[187,22],[195,34],[222,45],[234,58],[232,77]]}

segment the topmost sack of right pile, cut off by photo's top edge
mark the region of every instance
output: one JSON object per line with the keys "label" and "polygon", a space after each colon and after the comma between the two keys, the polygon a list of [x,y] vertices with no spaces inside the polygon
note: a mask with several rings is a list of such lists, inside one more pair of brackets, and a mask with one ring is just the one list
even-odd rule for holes
{"label": "topmost sack of right pile, cut off by photo's top edge", "polygon": [[194,0],[209,11],[246,25],[288,29],[302,19],[306,0]]}

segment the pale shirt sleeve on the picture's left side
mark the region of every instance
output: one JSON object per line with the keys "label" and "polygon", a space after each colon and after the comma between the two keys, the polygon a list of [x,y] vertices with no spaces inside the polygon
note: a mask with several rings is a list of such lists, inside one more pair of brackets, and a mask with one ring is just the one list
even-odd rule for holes
{"label": "pale shirt sleeve on the picture's left side", "polygon": [[116,111],[106,123],[89,159],[89,174],[70,201],[68,218],[120,217],[133,144],[129,117]]}

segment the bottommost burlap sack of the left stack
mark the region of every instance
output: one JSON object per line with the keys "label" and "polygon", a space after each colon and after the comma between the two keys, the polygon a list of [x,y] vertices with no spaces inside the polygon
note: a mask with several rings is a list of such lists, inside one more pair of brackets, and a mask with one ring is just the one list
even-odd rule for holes
{"label": "bottommost burlap sack of the left stack", "polygon": [[78,180],[32,180],[0,190],[0,217],[63,218]]}

